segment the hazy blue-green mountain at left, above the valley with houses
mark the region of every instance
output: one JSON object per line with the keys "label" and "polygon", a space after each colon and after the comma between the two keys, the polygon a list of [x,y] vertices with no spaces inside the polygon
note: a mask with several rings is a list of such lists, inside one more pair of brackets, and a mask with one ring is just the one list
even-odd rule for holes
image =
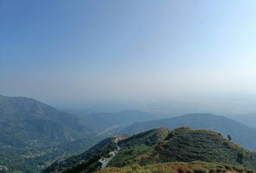
{"label": "hazy blue-green mountain at left, above the valley with houses", "polygon": [[86,121],[24,97],[0,96],[0,143],[46,147],[95,136]]}

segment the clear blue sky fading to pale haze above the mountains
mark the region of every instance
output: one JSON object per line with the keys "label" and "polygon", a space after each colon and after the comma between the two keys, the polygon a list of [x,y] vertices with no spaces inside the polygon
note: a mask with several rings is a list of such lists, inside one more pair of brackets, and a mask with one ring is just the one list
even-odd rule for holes
{"label": "clear blue sky fading to pale haze above the mountains", "polygon": [[254,0],[0,0],[0,94],[256,104],[255,19]]}

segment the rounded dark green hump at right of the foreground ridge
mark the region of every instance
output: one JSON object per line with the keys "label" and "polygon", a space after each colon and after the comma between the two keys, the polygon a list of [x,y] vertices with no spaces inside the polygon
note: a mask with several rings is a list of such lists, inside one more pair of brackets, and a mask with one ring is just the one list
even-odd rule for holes
{"label": "rounded dark green hump at right of the foreground ridge", "polygon": [[156,162],[201,160],[256,169],[256,152],[243,149],[214,131],[186,127],[171,131],[168,138],[156,146],[152,155]]}

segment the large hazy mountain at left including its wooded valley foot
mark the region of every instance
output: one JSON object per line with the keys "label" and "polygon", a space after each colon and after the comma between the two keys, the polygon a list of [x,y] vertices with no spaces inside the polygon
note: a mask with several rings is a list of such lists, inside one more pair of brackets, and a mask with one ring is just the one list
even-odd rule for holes
{"label": "large hazy mountain at left including its wooded valley foot", "polygon": [[38,166],[95,144],[93,128],[77,116],[24,97],[0,95],[0,165],[37,172]]}

